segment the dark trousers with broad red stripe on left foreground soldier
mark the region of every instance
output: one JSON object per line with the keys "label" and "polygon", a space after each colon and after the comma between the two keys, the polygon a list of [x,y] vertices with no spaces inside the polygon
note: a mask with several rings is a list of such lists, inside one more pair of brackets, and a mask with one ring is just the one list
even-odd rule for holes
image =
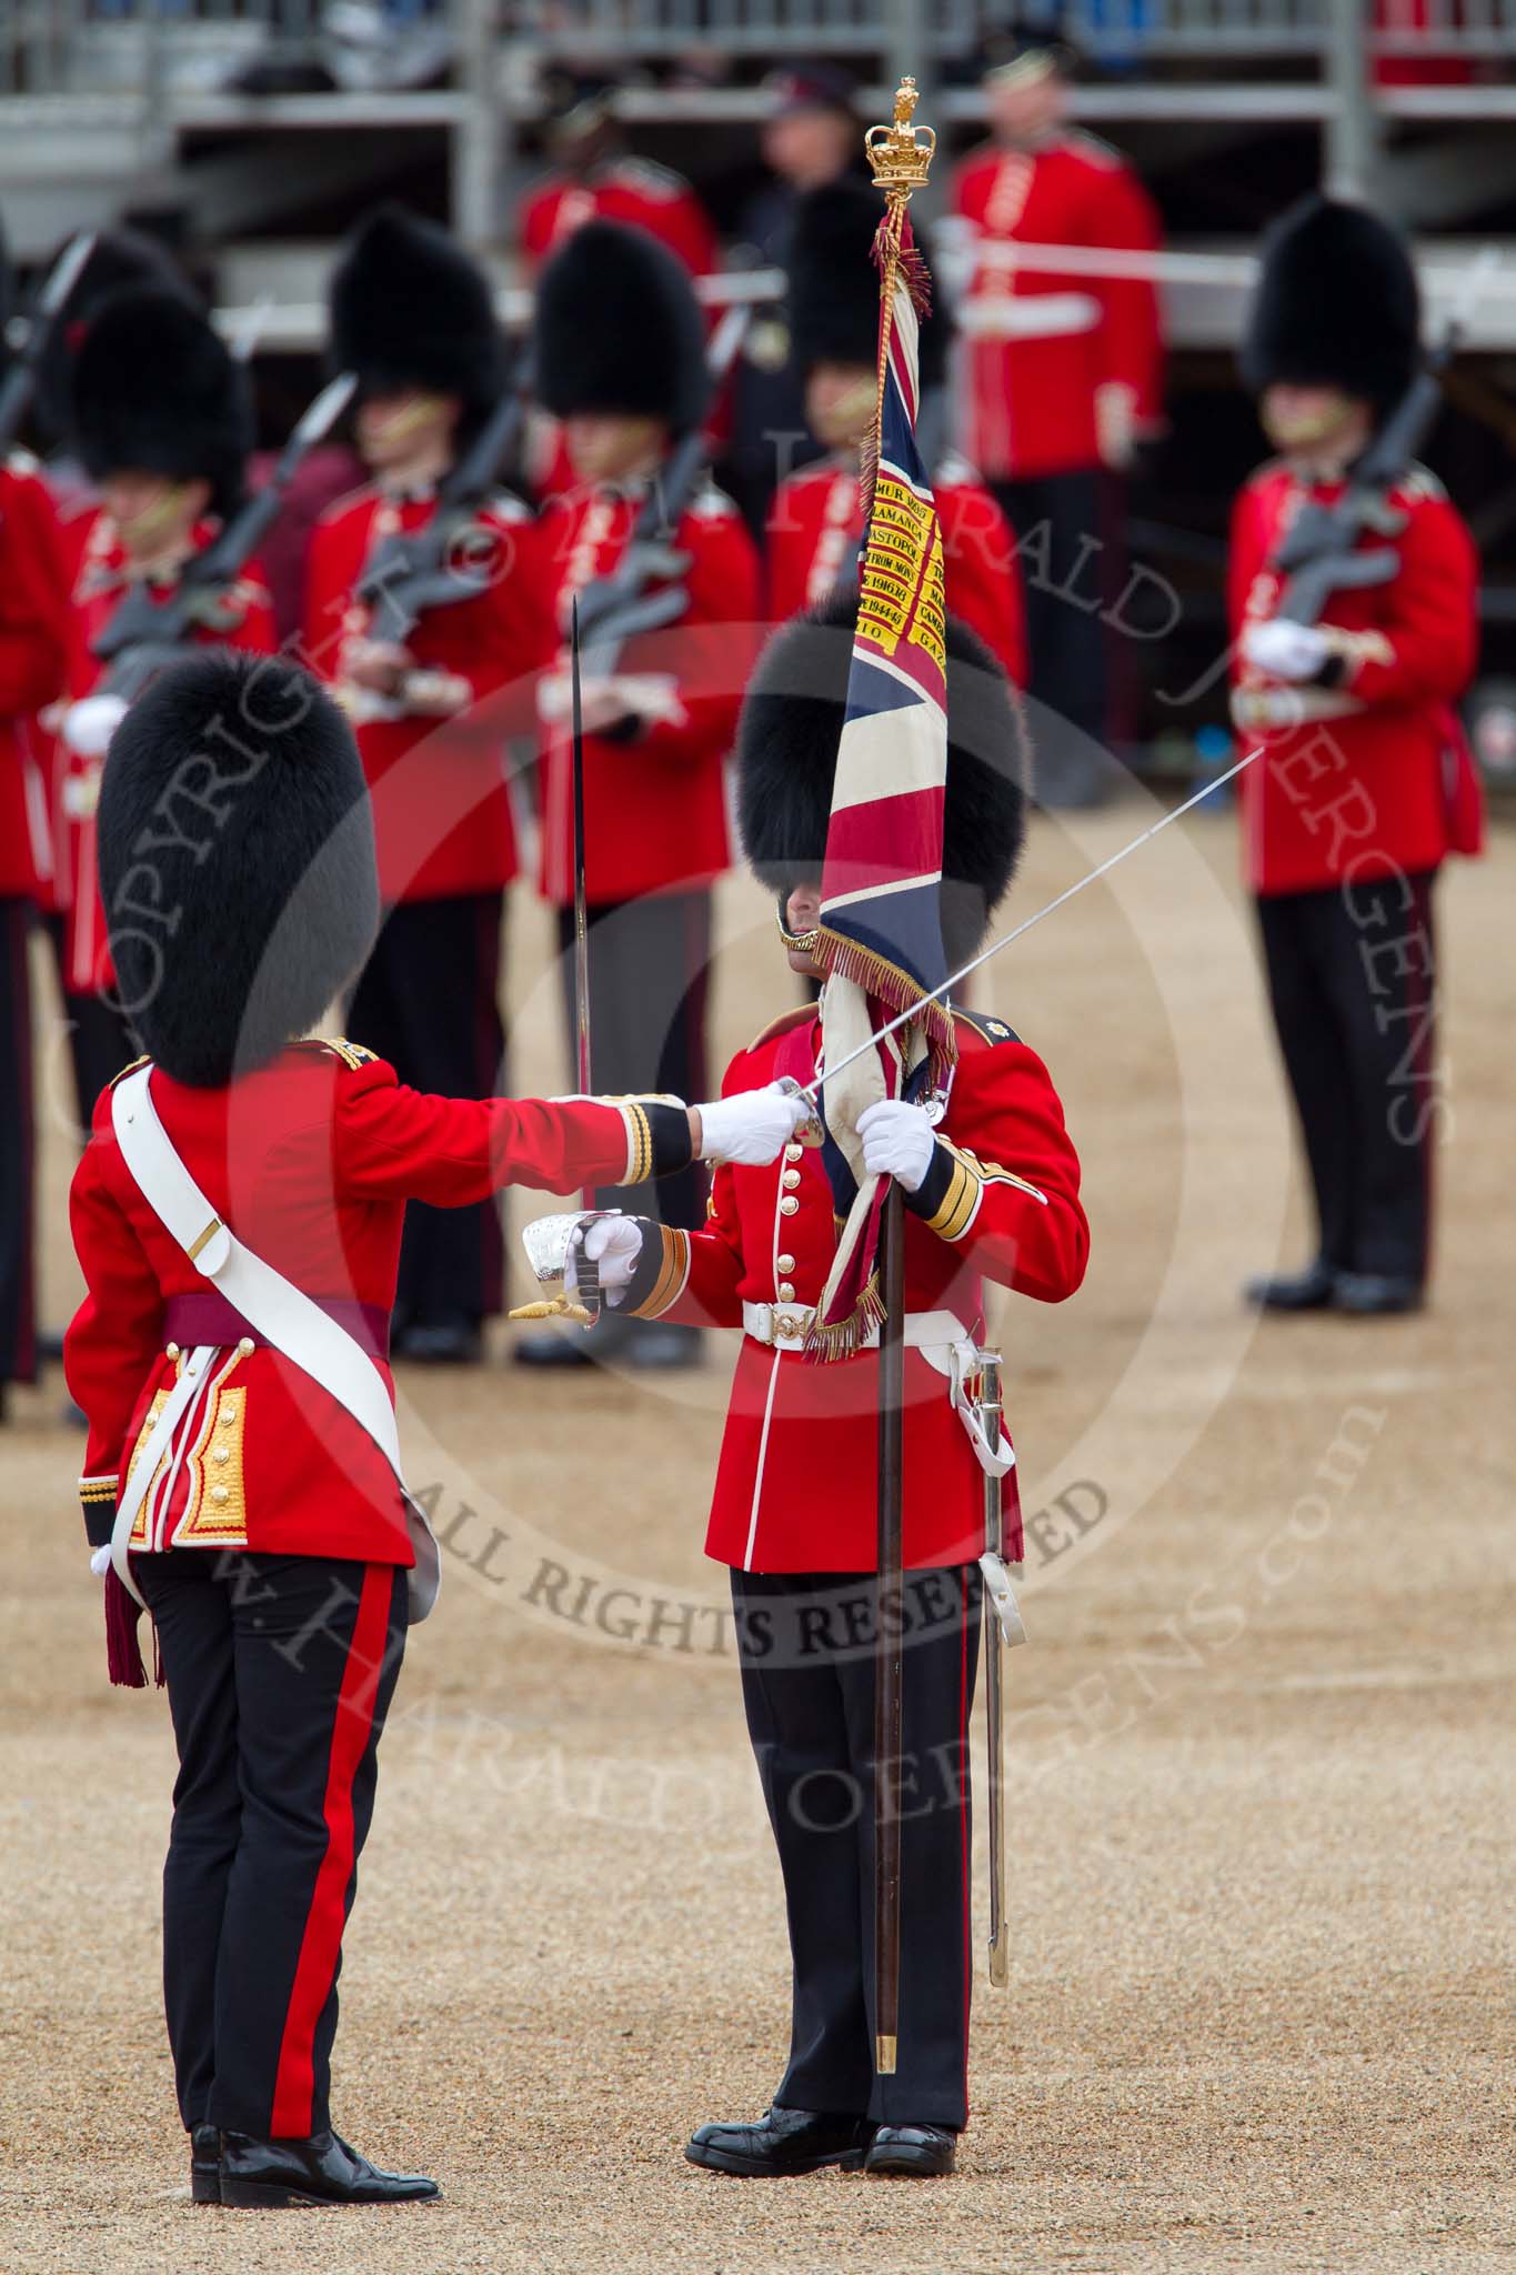
{"label": "dark trousers with broad red stripe on left foreground soldier", "polygon": [[164,1863],[180,2116],[307,2138],[330,2123],[341,1936],[405,1652],[405,1570],[170,1549],[132,1572],[180,1749]]}

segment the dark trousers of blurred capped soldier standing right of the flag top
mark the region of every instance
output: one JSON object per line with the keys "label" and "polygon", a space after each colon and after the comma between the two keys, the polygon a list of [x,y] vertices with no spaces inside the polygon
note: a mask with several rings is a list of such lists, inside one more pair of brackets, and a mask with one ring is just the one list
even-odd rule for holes
{"label": "dark trousers of blurred capped soldier standing right of the flag top", "polygon": [[1039,705],[1032,721],[1034,787],[1043,805],[1082,805],[1102,789],[1109,737],[1109,692],[1102,571],[1100,475],[1091,469],[991,482],[1021,562],[1027,610],[1027,694]]}

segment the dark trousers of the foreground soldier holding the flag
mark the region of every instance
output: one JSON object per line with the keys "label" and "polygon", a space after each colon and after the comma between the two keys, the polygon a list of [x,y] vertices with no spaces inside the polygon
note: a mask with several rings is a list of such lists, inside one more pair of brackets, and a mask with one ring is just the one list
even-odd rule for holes
{"label": "dark trousers of the foreground soldier holding the flag", "polygon": [[[786,2109],[968,2123],[968,1713],[980,1567],[905,1577],[900,2034],[873,2068],[873,1574],[732,1572],[748,1736],[793,1956]],[[859,1645],[859,1638],[861,1645]]]}

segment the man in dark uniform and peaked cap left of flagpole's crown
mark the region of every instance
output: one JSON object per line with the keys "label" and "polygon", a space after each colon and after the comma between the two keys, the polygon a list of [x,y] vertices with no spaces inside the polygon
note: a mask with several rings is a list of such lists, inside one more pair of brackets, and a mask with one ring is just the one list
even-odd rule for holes
{"label": "man in dark uniform and peaked cap left of flagpole's crown", "polygon": [[[755,268],[789,268],[800,198],[861,168],[861,127],[852,107],[855,82],[827,64],[773,71],[764,91],[773,109],[764,121],[761,152],[773,180],[741,216],[739,259]],[[761,532],[775,487],[825,448],[807,428],[789,321],[773,305],[761,307],[748,328],[732,423],[727,487]]]}

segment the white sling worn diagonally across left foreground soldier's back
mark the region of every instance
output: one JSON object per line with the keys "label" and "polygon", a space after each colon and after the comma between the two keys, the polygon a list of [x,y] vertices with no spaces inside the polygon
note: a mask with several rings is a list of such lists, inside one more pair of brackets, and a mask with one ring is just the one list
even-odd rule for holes
{"label": "white sling worn diagonally across left foreground soldier's back", "polygon": [[[255,1333],[293,1360],[318,1383],[327,1397],[336,1399],[361,1431],[373,1438],[384,1461],[395,1472],[395,1486],[405,1504],[407,1531],[416,1552],[409,1581],[409,1618],[418,1627],[427,1618],[441,1588],[441,1554],[425,1511],[411,1497],[400,1470],[400,1433],[395,1408],[380,1367],[364,1345],[332,1320],[320,1304],[266,1265],[261,1256],[243,1247],[230,1224],[223,1224],[193,1176],[180,1160],[175,1144],[159,1122],[150,1094],[152,1067],[127,1074],[111,1092],[111,1126],[116,1144],[139,1192],[164,1228],[180,1242],[195,1272],[216,1285]],[[186,1408],[205,1385],[205,1374],[216,1356],[216,1345],[200,1345],[184,1358],[184,1372],[173,1383],[157,1422],[139,1449],[132,1476],[116,1504],[116,1527],[111,1531],[111,1565],[141,1604],[141,1590],[132,1581],[127,1542],[136,1513],[152,1488],[164,1454],[175,1440],[175,1429]]]}

